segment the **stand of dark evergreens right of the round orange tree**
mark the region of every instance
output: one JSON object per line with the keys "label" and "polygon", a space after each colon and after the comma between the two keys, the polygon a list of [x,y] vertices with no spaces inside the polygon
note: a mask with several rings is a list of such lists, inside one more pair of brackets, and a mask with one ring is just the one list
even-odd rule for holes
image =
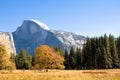
{"label": "stand of dark evergreens right of the round orange tree", "polygon": [[120,68],[120,37],[112,35],[87,38],[82,50],[65,51],[65,69]]}

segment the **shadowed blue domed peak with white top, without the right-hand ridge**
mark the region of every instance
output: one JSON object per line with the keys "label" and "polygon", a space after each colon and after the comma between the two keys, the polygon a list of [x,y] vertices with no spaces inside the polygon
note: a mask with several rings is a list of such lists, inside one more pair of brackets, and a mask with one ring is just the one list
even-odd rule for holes
{"label": "shadowed blue domed peak with white top, without the right-hand ridge", "polygon": [[33,20],[24,20],[21,27],[13,32],[13,38],[17,53],[23,48],[33,54],[36,47],[44,44],[53,47],[62,45],[45,24]]}

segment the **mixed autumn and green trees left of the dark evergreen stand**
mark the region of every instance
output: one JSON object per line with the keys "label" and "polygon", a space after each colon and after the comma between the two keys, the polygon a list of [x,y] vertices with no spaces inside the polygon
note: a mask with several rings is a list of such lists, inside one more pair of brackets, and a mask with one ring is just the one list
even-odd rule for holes
{"label": "mixed autumn and green trees left of the dark evergreen stand", "polygon": [[0,70],[13,69],[64,69],[64,57],[61,49],[56,50],[47,45],[36,48],[31,56],[24,49],[18,54],[7,54],[4,45],[0,44]]}

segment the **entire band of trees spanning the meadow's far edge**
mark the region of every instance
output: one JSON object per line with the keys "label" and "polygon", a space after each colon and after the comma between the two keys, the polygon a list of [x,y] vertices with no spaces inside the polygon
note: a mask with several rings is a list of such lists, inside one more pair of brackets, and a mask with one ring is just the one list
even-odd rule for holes
{"label": "entire band of trees spanning the meadow's far edge", "polygon": [[87,38],[82,49],[63,51],[41,45],[31,56],[24,49],[8,55],[0,43],[0,70],[2,69],[112,69],[120,68],[120,37],[112,35]]}

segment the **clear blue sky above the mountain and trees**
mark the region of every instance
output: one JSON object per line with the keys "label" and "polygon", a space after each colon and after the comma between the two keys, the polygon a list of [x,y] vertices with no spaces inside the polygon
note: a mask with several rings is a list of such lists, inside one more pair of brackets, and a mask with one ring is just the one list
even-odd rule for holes
{"label": "clear blue sky above the mountain and trees", "polygon": [[23,20],[84,36],[120,35],[120,0],[0,0],[0,31],[13,32]]}

